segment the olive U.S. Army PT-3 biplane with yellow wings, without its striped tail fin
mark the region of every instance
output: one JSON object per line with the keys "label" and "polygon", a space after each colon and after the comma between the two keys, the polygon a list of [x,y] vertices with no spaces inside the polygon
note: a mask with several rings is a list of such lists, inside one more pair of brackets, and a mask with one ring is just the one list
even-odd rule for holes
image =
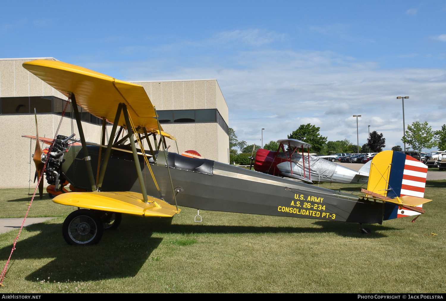
{"label": "olive U.S. Army PT-3 biplane with yellow wings, without its striped tail fin", "polygon": [[[46,153],[37,142],[34,154],[39,176],[44,172],[57,189],[67,181],[83,190],[53,199],[78,207],[62,227],[69,244],[97,243],[104,228],[119,225],[122,213],[169,217],[180,212],[178,206],[381,224],[398,208],[429,201],[398,195],[384,199],[376,191],[368,191],[374,195],[351,195],[167,152],[165,138],[175,138],[163,131],[142,86],[60,61],[36,60],[23,66],[70,99],[78,126],[81,146],[68,143],[73,135],[59,135]],[[103,120],[100,144],[86,142],[78,106]],[[105,145],[107,122],[113,126]],[[127,130],[122,139],[116,138],[118,126]],[[143,148],[144,139],[149,150]],[[124,145],[124,141],[129,143]],[[152,179],[151,183],[146,184],[145,179]]]}

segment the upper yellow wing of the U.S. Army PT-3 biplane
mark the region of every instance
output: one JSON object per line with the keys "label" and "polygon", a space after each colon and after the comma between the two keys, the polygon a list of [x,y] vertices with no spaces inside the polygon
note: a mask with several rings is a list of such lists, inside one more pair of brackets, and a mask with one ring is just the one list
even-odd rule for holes
{"label": "upper yellow wing of the U.S. Army PT-3 biplane", "polygon": [[[73,93],[79,106],[110,122],[115,119],[118,104],[125,103],[136,127],[145,127],[147,131],[159,134],[155,109],[140,85],[61,61],[28,61],[23,63],[23,67],[67,97]],[[122,114],[118,125],[130,126],[125,124]],[[161,134],[175,139],[162,128]]]}

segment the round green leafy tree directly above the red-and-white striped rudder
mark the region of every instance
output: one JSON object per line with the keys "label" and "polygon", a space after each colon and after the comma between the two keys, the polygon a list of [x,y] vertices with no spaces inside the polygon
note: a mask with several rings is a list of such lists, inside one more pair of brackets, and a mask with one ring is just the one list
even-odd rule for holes
{"label": "round green leafy tree directly above the red-and-white striped rudder", "polygon": [[430,149],[437,145],[435,133],[427,124],[427,121],[423,123],[416,121],[412,123],[412,126],[407,126],[406,136],[401,138],[401,141],[409,144],[413,150],[417,150],[420,153],[420,158],[421,150]]}

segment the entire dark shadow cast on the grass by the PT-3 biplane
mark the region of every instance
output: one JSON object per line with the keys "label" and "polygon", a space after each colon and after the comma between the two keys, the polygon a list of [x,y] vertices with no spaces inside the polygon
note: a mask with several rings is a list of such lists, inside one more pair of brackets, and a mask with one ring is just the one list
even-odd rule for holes
{"label": "entire dark shadow cast on the grass by the PT-3 biplane", "polygon": [[[339,236],[377,239],[386,237],[376,230],[392,230],[391,227],[369,225],[373,234],[362,235],[354,224],[315,220],[321,228],[225,226],[205,224],[171,224],[172,218],[140,218],[123,216],[117,230],[105,231],[99,244],[77,247],[67,245],[61,235],[61,224],[33,224],[26,229],[39,234],[19,240],[13,259],[54,258],[25,277],[28,281],[97,281],[134,277],[149,259],[153,250],[163,240],[160,234],[190,233],[324,233],[335,232]],[[0,260],[7,260],[12,245],[0,249]]]}

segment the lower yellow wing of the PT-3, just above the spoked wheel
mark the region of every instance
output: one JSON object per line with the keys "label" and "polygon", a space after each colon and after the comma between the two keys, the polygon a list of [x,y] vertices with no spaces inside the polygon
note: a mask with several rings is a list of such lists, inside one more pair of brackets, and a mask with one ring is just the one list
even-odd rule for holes
{"label": "lower yellow wing of the PT-3, just above the spoked wheel", "polygon": [[54,203],[88,209],[120,212],[138,216],[170,217],[181,209],[166,203],[162,199],[148,196],[145,203],[143,195],[131,191],[117,192],[69,192],[56,196]]}

